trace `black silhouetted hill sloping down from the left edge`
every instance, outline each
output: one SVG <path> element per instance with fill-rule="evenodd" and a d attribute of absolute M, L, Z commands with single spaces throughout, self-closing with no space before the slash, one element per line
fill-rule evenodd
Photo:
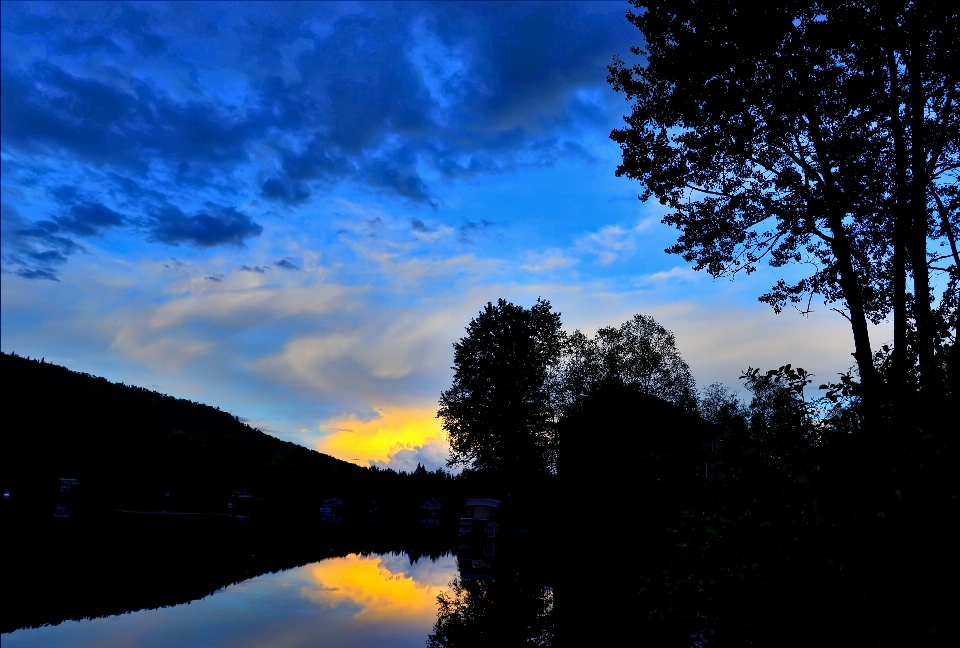
<path fill-rule="evenodd" d="M 0 368 L 0 487 L 12 513 L 52 514 L 62 477 L 79 481 L 73 504 L 91 513 L 226 512 L 236 489 L 266 507 L 312 509 L 372 477 L 208 405 L 16 355 L 0 354 Z"/>

